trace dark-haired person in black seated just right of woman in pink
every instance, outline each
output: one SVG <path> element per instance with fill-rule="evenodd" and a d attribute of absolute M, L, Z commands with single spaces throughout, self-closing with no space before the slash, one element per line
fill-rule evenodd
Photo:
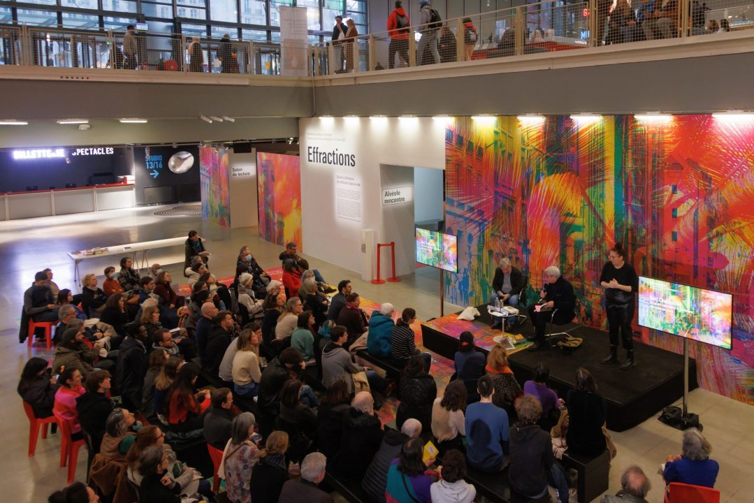
<path fill-rule="evenodd" d="M 76 398 L 76 413 L 81 429 L 89 434 L 94 448 L 93 454 L 100 452 L 100 444 L 105 436 L 107 418 L 112 413 L 112 402 L 107 394 L 112 387 L 107 370 L 94 370 L 86 380 L 86 393 Z"/>

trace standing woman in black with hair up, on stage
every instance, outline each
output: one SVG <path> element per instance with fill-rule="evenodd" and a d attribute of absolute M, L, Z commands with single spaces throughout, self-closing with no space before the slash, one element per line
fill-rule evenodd
<path fill-rule="evenodd" d="M 626 262 L 623 245 L 616 243 L 608 253 L 610 262 L 602 268 L 599 284 L 605 289 L 605 309 L 608 314 L 610 329 L 610 354 L 602 363 L 618 362 L 618 330 L 621 331 L 623 348 L 626 350 L 626 362 L 621 369 L 636 366 L 633 354 L 633 337 L 631 320 L 633 319 L 634 293 L 639 290 L 639 277 L 633 267 Z"/>

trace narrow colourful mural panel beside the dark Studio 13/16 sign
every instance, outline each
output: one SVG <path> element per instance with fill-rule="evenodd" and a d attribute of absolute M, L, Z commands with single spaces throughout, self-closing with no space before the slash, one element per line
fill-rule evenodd
<path fill-rule="evenodd" d="M 201 147 L 201 218 L 214 220 L 223 227 L 231 226 L 231 197 L 228 188 L 228 149 Z"/>

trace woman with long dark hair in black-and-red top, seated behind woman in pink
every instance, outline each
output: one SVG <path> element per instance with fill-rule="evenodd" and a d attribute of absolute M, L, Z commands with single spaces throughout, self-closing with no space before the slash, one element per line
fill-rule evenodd
<path fill-rule="evenodd" d="M 186 432 L 204 428 L 204 410 L 210 403 L 210 390 L 194 392 L 199 371 L 193 363 L 186 363 L 167 391 L 167 422 L 170 431 Z"/>

